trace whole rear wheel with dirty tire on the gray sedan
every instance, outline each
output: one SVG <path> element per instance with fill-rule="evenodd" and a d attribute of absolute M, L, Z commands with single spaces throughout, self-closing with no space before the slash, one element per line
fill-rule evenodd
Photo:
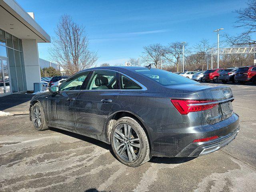
<path fill-rule="evenodd" d="M 116 158 L 130 167 L 138 167 L 151 158 L 146 132 L 133 118 L 122 117 L 116 121 L 110 135 Z"/>

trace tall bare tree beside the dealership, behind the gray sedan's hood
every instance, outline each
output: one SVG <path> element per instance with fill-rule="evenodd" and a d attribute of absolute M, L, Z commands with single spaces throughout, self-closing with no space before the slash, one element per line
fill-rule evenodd
<path fill-rule="evenodd" d="M 89 50 L 89 41 L 85 28 L 76 24 L 69 15 L 60 17 L 49 49 L 50 59 L 72 75 L 90 68 L 98 59 L 96 52 Z"/>

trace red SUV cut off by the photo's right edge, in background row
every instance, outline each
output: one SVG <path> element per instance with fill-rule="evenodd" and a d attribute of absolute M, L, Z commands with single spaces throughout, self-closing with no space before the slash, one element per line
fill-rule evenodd
<path fill-rule="evenodd" d="M 253 82 L 256 84 L 256 65 L 239 67 L 236 71 L 235 80 L 240 83 Z"/>

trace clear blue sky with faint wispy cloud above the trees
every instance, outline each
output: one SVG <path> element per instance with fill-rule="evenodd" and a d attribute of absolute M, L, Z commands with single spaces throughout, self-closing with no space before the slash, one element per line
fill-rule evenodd
<path fill-rule="evenodd" d="M 100 56 L 97 64 L 124 64 L 138 58 L 143 46 L 152 43 L 186 41 L 190 46 L 203 38 L 217 40 L 217 28 L 229 34 L 236 9 L 246 7 L 243 0 L 17 0 L 51 36 L 62 14 L 86 27 L 90 50 Z M 39 56 L 48 59 L 50 43 L 39 43 Z"/>

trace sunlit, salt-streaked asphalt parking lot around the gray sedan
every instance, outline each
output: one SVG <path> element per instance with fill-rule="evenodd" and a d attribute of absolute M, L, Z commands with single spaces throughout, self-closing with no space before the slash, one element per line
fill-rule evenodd
<path fill-rule="evenodd" d="M 0 191 L 255 192 L 256 86 L 228 85 L 240 116 L 232 143 L 198 158 L 154 157 L 138 168 L 118 162 L 98 140 L 38 132 L 26 114 L 0 117 Z"/>

